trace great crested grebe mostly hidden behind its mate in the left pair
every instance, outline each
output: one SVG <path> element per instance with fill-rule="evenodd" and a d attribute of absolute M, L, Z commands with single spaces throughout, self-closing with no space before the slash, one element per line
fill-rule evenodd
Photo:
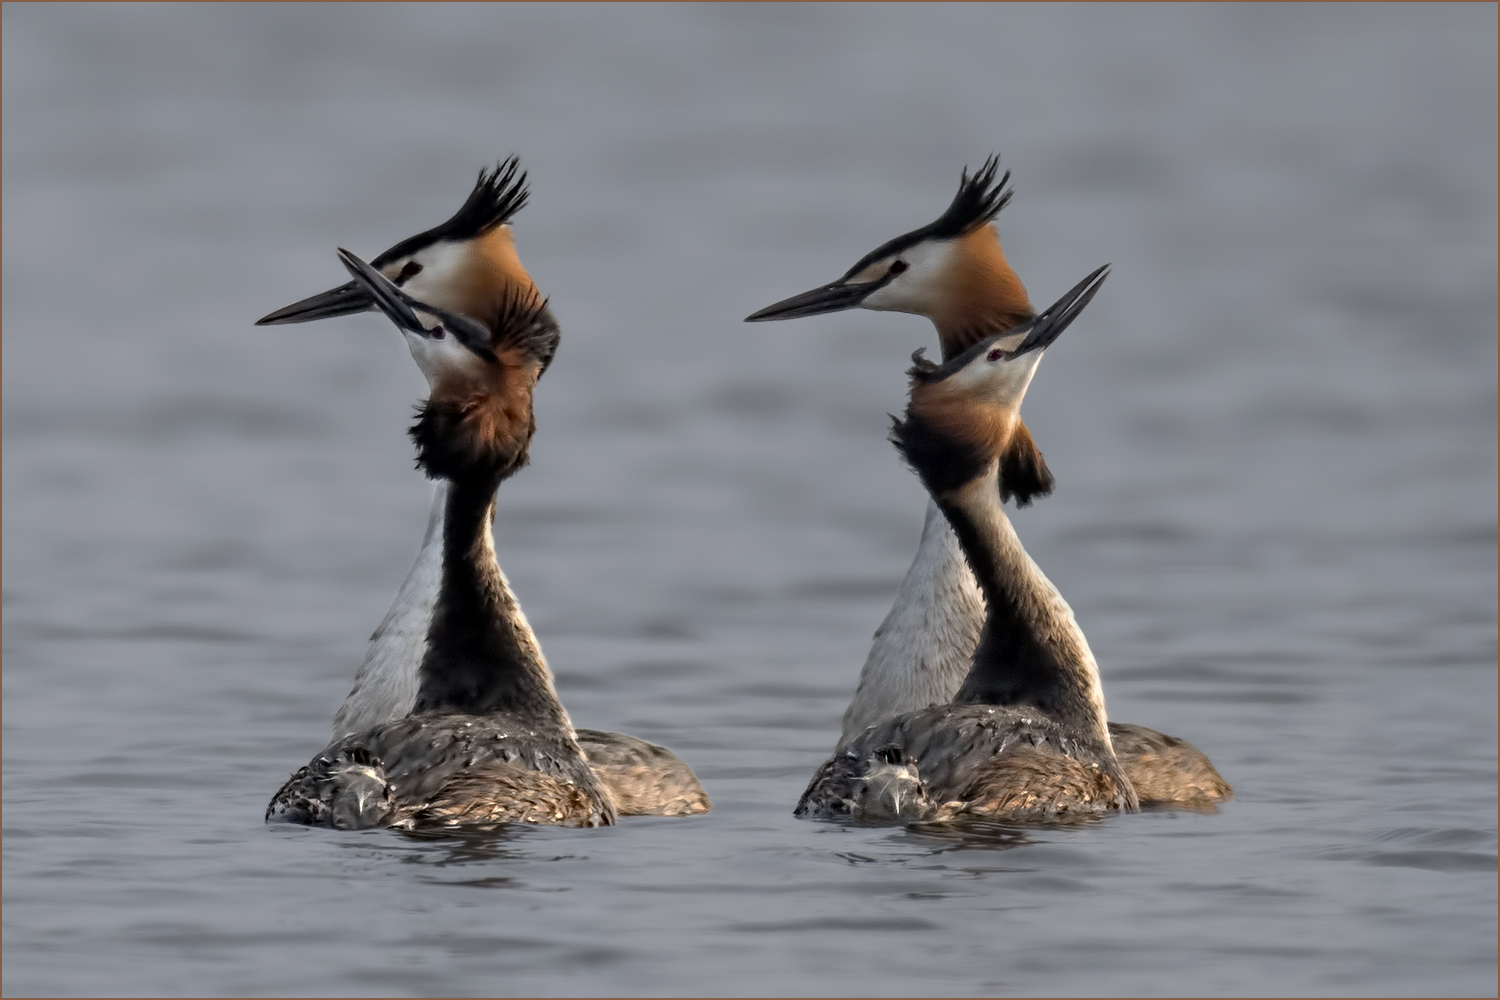
<path fill-rule="evenodd" d="M 494 171 L 480 171 L 474 190 L 452 219 L 402 240 L 370 265 L 412 301 L 435 310 L 492 318 L 516 301 L 544 310 L 542 294 L 516 253 L 508 225 L 526 199 L 526 174 L 519 169 L 519 160 L 510 157 Z M 376 301 L 366 283 L 351 280 L 278 309 L 256 325 L 306 322 L 370 309 L 376 309 Z M 412 358 L 422 367 L 428 342 L 420 334 L 405 333 Z M 542 358 L 543 372 L 549 361 L 550 355 Z M 404 718 L 417 703 L 418 669 L 428 651 L 441 579 L 447 490 L 446 480 L 435 481 L 422 550 L 370 636 L 350 694 L 333 717 L 336 739 Z M 531 627 L 513 598 L 512 607 L 514 628 L 530 636 Z M 670 750 L 624 733 L 594 729 L 576 733 L 621 816 L 692 816 L 710 810 L 702 784 Z"/>

